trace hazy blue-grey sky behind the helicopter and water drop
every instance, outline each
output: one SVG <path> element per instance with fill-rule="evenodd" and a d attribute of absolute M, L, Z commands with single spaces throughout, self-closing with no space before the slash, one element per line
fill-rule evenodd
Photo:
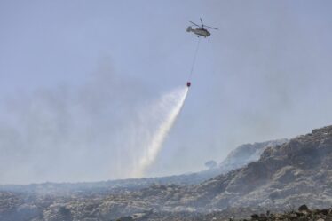
<path fill-rule="evenodd" d="M 331 124 L 331 1 L 0 1 L 0 184 L 127 178 L 150 108 L 193 85 L 146 176 Z M 148 122 L 148 123 L 146 123 Z"/>

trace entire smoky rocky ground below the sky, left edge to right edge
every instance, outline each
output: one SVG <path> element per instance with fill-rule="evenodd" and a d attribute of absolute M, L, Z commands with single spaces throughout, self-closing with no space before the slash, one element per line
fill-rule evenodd
<path fill-rule="evenodd" d="M 241 165 L 241 168 L 199 183 L 155 182 L 152 185 L 138 179 L 138 185 L 133 185 L 135 182 L 131 180 L 123 187 L 119 183 L 99 183 L 95 187 L 80 184 L 76 188 L 66 184 L 60 187 L 46 184 L 47 188 L 43 185 L 1 186 L 0 220 L 330 218 L 330 209 L 324 208 L 332 205 L 332 126 L 312 130 L 309 134 L 274 146 L 256 148 L 247 145 L 241 148 L 220 164 L 228 170 L 227 165 L 240 162 L 236 165 Z M 241 160 L 241 153 L 249 154 Z M 255 154 L 260 154 L 260 157 L 252 162 Z M 240 160 L 233 161 L 235 156 Z M 220 172 L 222 169 L 217 170 Z M 184 180 L 190 177 L 177 178 Z M 302 204 L 307 204 L 312 210 L 289 210 Z M 266 210 L 270 211 L 269 214 L 259 212 Z M 288 212 L 281 214 L 284 210 Z M 323 217 L 321 212 L 327 215 L 323 214 Z M 250 217 L 253 213 L 257 216 Z"/>

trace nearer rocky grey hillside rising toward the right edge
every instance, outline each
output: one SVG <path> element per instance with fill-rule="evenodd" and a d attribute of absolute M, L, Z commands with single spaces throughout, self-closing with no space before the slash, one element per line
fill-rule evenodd
<path fill-rule="evenodd" d="M 212 212 L 227 208 L 285 209 L 332 204 L 332 126 L 265 149 L 257 162 L 200 185 L 154 185 L 112 201 L 144 201 L 144 209 Z M 162 206 L 161 206 L 162 205 Z"/>

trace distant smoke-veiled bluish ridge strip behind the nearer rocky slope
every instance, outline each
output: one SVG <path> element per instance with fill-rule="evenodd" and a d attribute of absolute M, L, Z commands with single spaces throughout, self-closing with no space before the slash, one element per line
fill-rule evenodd
<path fill-rule="evenodd" d="M 277 139 L 241 145 L 228 154 L 225 160 L 219 163 L 217 168 L 187 174 L 159 178 L 127 178 L 100 182 L 0 185 L 0 191 L 11 191 L 15 193 L 54 193 L 63 195 L 76 192 L 114 193 L 119 190 L 134 191 L 146 188 L 150 185 L 195 185 L 209 178 L 214 178 L 217 175 L 225 174 L 230 170 L 241 168 L 249 162 L 257 161 L 265 148 L 274 147 L 286 141 L 287 139 Z"/>

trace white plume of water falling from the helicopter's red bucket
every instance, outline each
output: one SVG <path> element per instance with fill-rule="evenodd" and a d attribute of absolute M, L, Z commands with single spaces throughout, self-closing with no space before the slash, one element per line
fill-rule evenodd
<path fill-rule="evenodd" d="M 157 154 L 162 148 L 163 141 L 181 112 L 187 92 L 187 87 L 170 91 L 154 105 L 153 111 L 157 114 L 157 118 L 160 119 L 160 125 L 155 130 L 150 143 L 144 149 L 144 154 L 138 162 L 138 168 L 134 172 L 135 177 L 142 177 L 146 169 L 154 163 Z"/>

